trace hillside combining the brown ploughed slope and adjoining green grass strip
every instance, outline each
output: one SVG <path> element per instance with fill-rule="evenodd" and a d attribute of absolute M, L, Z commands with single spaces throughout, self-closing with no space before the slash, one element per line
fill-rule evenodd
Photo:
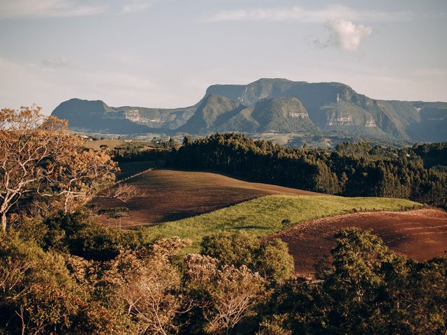
<path fill-rule="evenodd" d="M 129 215 L 122 218 L 123 228 L 148 225 L 145 234 L 154 237 L 192 239 L 191 251 L 197 251 L 203 236 L 219 230 L 245 230 L 264 237 L 291 225 L 353 209 L 396 211 L 420 206 L 402 199 L 321 195 L 211 172 L 152 170 L 126 183 L 137 186 L 145 195 L 125 204 L 104 199 L 97 199 L 96 204 L 103 208 L 128 207 Z M 98 216 L 96 221 L 116 224 L 105 216 Z"/>

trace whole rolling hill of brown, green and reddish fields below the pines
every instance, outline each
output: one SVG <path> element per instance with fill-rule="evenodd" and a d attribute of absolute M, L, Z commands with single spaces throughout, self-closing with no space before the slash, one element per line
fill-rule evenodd
<path fill-rule="evenodd" d="M 328 253 L 335 244 L 333 234 L 347 226 L 372 228 L 391 248 L 416 259 L 441 255 L 447 243 L 446 214 L 418 209 L 422 205 L 409 200 L 344 198 L 178 170 L 151 170 L 126 183 L 145 195 L 126 204 L 95 200 L 102 208 L 128 207 L 123 228 L 143 227 L 149 237 L 191 239 L 187 252 L 197 252 L 201 239 L 213 232 L 277 236 L 289 244 L 302 274 L 312 271 L 314 257 Z M 96 221 L 116 225 L 105 216 Z"/>

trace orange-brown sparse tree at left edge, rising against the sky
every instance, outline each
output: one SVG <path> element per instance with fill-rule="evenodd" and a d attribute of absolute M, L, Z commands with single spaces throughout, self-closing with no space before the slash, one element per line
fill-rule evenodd
<path fill-rule="evenodd" d="M 45 162 L 64 147 L 66 122 L 43 117 L 41 108 L 0 111 L 0 216 L 6 231 L 8 211 L 47 174 Z M 57 163 L 57 162 L 54 162 Z"/>

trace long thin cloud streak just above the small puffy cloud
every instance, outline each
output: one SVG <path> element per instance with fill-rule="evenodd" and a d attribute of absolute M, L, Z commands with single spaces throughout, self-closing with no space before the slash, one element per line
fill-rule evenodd
<path fill-rule="evenodd" d="M 225 21 L 268 21 L 323 23 L 344 18 L 362 22 L 408 21 L 413 18 L 409 11 L 384 12 L 380 10 L 354 10 L 346 6 L 331 5 L 320 10 L 309 10 L 300 6 L 291 8 L 258 8 L 220 12 L 205 19 L 209 22 Z"/>

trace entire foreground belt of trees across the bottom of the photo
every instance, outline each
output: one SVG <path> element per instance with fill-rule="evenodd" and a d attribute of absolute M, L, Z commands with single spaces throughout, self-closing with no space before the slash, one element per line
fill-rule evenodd
<path fill-rule="evenodd" d="M 445 334 L 447 260 L 414 262 L 370 232 L 337 234 L 317 278 L 279 239 L 148 239 L 87 212 L 0 233 L 1 334 Z"/>

